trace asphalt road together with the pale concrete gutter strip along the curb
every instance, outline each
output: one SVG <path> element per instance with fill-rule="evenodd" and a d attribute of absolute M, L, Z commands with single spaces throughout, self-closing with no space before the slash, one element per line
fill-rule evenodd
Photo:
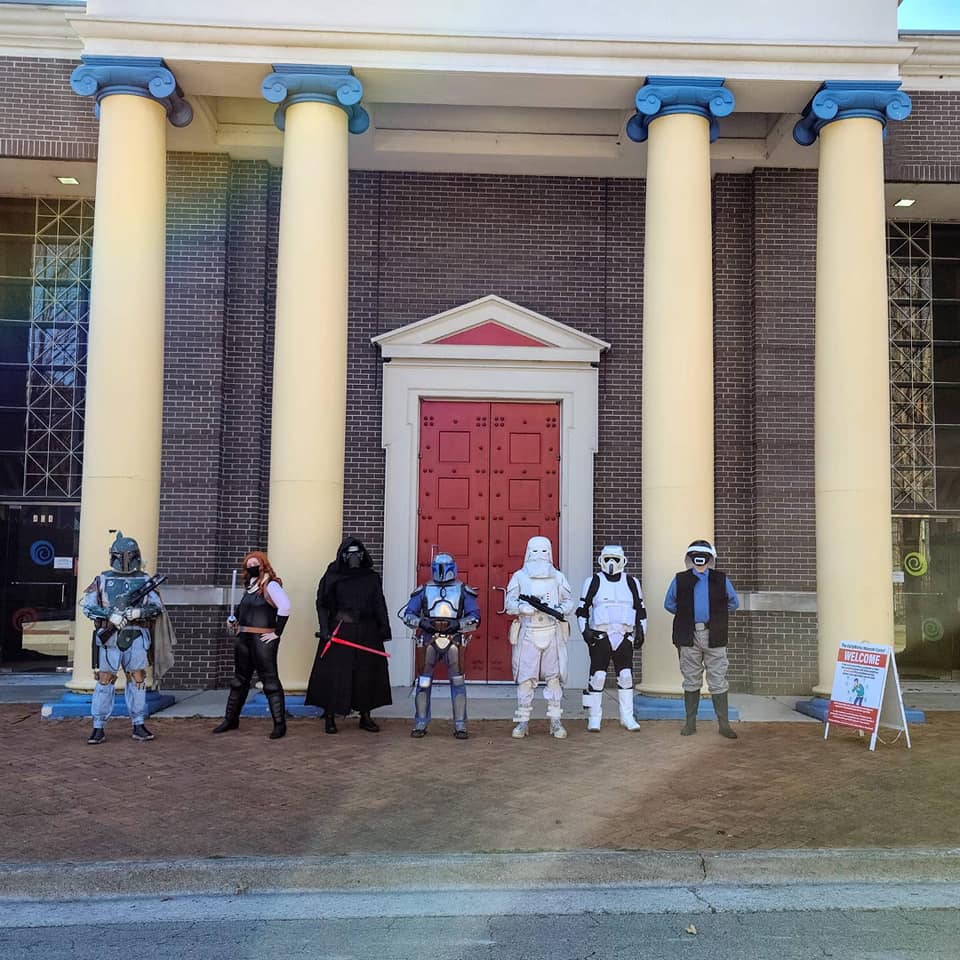
<path fill-rule="evenodd" d="M 406 887 L 0 900 L 2 960 L 956 960 L 960 884 Z"/>

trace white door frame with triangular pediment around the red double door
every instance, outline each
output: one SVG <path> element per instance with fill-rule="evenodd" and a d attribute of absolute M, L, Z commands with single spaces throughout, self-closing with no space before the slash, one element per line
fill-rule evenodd
<path fill-rule="evenodd" d="M 539 345 L 437 342 L 490 322 Z M 374 337 L 373 342 L 389 361 L 383 369 L 383 584 L 394 636 L 390 679 L 402 685 L 412 683 L 415 668 L 413 635 L 395 613 L 416 586 L 420 401 L 559 402 L 560 566 L 577 591 L 594 565 L 597 365 L 609 344 L 494 296 Z M 572 643 L 571 676 L 586 677 L 587 666 L 586 647 Z"/>

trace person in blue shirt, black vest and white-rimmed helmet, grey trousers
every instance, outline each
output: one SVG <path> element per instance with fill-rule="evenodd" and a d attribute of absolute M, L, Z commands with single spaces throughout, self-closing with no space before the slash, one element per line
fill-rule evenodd
<path fill-rule="evenodd" d="M 720 735 L 736 740 L 730 726 L 727 691 L 727 628 L 740 598 L 725 573 L 716 570 L 717 551 L 709 540 L 694 540 L 684 556 L 686 570 L 670 583 L 664 607 L 673 616 L 673 643 L 680 655 L 686 723 L 681 736 L 697 732 L 703 671 L 713 699 Z"/>

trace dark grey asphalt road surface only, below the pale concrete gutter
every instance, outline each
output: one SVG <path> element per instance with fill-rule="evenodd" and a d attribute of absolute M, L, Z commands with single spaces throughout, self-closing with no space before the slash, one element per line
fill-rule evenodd
<path fill-rule="evenodd" d="M 693 924 L 696 933 L 688 932 Z M 7 929 L 4 960 L 955 960 L 950 910 L 394 917 Z"/>

